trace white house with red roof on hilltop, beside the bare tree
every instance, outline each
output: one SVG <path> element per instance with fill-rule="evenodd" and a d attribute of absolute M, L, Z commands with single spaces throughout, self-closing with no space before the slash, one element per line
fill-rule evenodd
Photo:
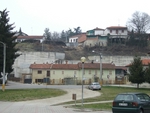
<path fill-rule="evenodd" d="M 111 43 L 125 43 L 128 38 L 127 27 L 110 26 L 105 29 L 105 34 L 109 36 Z"/>

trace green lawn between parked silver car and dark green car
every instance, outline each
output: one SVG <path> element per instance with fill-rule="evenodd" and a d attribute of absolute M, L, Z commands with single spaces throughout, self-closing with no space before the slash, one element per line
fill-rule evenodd
<path fill-rule="evenodd" d="M 94 93 L 95 91 L 93 91 Z M 115 86 L 103 86 L 102 90 L 99 91 L 101 93 L 101 96 L 94 97 L 94 98 L 87 98 L 84 99 L 84 103 L 87 102 L 97 102 L 97 101 L 107 101 L 107 100 L 113 100 L 117 94 L 119 93 L 125 93 L 125 92 L 143 92 L 150 95 L 150 89 L 149 88 L 127 88 L 127 87 L 115 87 Z M 81 103 L 81 100 L 77 100 L 76 103 Z M 74 104 L 74 101 L 67 102 L 65 104 Z M 82 108 L 81 105 L 73 106 L 76 108 Z M 84 104 L 84 108 L 89 109 L 98 109 L 98 110 L 111 110 L 112 103 L 96 103 L 96 104 Z"/>

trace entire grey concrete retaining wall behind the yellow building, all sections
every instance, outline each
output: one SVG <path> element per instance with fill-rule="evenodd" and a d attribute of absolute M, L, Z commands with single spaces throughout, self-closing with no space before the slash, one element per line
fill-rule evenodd
<path fill-rule="evenodd" d="M 52 63 L 58 59 L 64 60 L 64 53 L 56 53 L 56 52 L 20 52 L 20 56 L 15 60 L 13 68 L 15 77 L 22 77 L 22 73 L 31 73 L 29 69 L 30 64 L 36 62 L 39 63 Z M 134 56 L 102 56 L 102 63 L 114 63 L 116 66 L 126 66 L 133 61 Z M 150 59 L 149 56 L 141 56 L 142 59 Z M 99 63 L 99 56 L 87 56 L 86 62 L 94 62 Z M 68 64 L 77 64 L 81 62 L 79 60 L 69 60 Z M 66 61 L 64 60 L 65 64 Z"/>

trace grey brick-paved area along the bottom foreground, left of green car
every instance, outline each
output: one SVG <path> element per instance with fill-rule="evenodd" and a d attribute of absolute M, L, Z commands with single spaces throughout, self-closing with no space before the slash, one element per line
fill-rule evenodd
<path fill-rule="evenodd" d="M 90 111 L 67 108 L 63 106 L 50 106 L 45 104 L 26 102 L 0 102 L 0 113 L 111 113 L 107 111 Z"/>

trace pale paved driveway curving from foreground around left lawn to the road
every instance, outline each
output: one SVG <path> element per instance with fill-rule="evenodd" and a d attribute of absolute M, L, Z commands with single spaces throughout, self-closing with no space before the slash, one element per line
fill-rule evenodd
<path fill-rule="evenodd" d="M 9 85 L 11 84 L 11 86 Z M 44 85 L 31 85 L 31 84 L 21 84 L 21 83 L 13 83 L 9 82 L 7 89 L 12 89 L 20 85 L 20 87 L 24 88 L 45 88 Z M 14 84 L 14 85 L 13 85 Z M 46 86 L 46 88 L 50 88 L 54 86 Z M 56 87 L 56 86 L 55 86 Z M 0 113 L 111 113 L 110 111 L 90 111 L 87 109 L 79 110 L 75 108 L 69 108 L 63 105 L 55 106 L 55 104 L 67 102 L 72 100 L 72 94 L 77 95 L 77 99 L 81 99 L 82 91 L 81 86 L 77 86 L 74 88 L 70 88 L 68 86 L 57 86 L 63 87 L 63 90 L 67 91 L 68 93 L 59 97 L 54 98 L 47 98 L 47 99 L 39 99 L 39 100 L 32 100 L 32 101 L 22 101 L 22 102 L 2 102 L 0 101 Z M 66 87 L 66 88 L 65 88 Z M 83 97 L 95 97 L 99 96 L 100 93 L 97 91 L 91 91 L 84 88 Z"/>

